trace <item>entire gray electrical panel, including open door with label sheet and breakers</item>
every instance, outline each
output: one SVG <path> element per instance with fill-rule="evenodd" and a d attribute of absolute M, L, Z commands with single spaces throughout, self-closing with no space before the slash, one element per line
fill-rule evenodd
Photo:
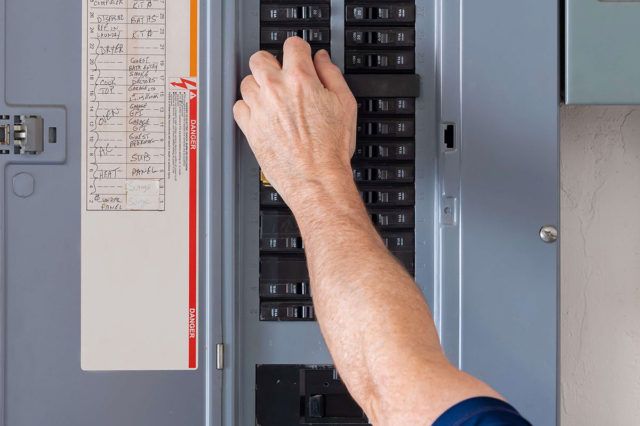
<path fill-rule="evenodd" d="M 291 36 L 345 73 L 353 179 L 448 358 L 555 424 L 557 2 L 0 0 L 0 21 L 5 424 L 368 424 L 232 116 L 249 57 Z"/>

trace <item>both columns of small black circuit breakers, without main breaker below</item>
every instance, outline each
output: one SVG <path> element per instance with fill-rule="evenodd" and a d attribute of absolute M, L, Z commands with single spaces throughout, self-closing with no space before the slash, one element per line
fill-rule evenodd
<path fill-rule="evenodd" d="M 263 0 L 261 49 L 281 57 L 299 36 L 330 50 L 330 1 Z M 345 2 L 344 67 L 358 100 L 353 177 L 389 250 L 414 271 L 415 4 Z M 335 59 L 335 58 L 334 58 Z M 260 180 L 260 320 L 315 319 L 304 242 L 291 211 Z"/>

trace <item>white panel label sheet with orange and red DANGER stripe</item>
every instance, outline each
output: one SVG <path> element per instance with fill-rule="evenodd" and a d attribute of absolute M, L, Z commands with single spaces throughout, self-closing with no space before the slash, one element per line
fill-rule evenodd
<path fill-rule="evenodd" d="M 198 367 L 198 4 L 83 0 L 85 370 Z"/>

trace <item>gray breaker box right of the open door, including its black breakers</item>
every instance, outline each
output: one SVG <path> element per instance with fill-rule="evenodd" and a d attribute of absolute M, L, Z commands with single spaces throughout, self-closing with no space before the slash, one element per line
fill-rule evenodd
<path fill-rule="evenodd" d="M 488 8 L 421 0 L 242 4 L 240 10 L 247 12 L 241 23 L 242 62 L 255 51 L 257 40 L 282 59 L 288 34 L 309 41 L 314 53 L 328 50 L 344 71 L 358 106 L 353 179 L 385 245 L 424 291 L 445 352 L 456 365 L 509 394 L 534 423 L 550 424 L 554 396 L 528 406 L 530 391 L 521 393 L 505 377 L 491 377 L 500 376 L 508 364 L 499 351 L 527 358 L 525 352 L 532 350 L 533 341 L 524 338 L 528 325 L 520 322 L 526 303 L 513 303 L 523 293 L 535 293 L 545 300 L 550 320 L 542 325 L 536 316 L 546 330 L 538 341 L 546 348 L 546 361 L 536 363 L 536 376 L 545 378 L 543 393 L 555 395 L 555 373 L 548 369 L 555 365 L 555 275 L 538 276 L 535 281 L 546 284 L 532 287 L 531 280 L 522 281 L 521 271 L 529 270 L 533 259 L 555 264 L 555 250 L 538 231 L 542 222 L 557 218 L 553 194 L 541 192 L 542 187 L 555 188 L 548 179 L 557 176 L 557 136 L 544 130 L 557 128 L 558 63 L 549 55 L 557 49 L 557 28 L 552 27 L 557 5 L 546 0 L 544 5 L 495 3 Z M 256 8 L 259 37 L 251 28 Z M 243 73 L 248 71 L 243 65 Z M 516 94 L 508 102 L 507 90 Z M 544 109 L 532 108 L 542 104 Z M 307 393 L 305 375 L 314 369 L 330 374 L 333 367 L 315 323 L 304 240 L 250 150 L 242 145 L 239 151 L 241 309 L 236 314 L 242 336 L 238 368 L 245 373 L 237 377 L 246 401 L 240 422 L 366 422 L 357 415 L 309 417 L 322 412 L 323 403 L 327 412 L 332 408 L 322 391 Z M 542 161 L 541 152 L 553 161 Z M 534 157 L 548 165 L 545 178 L 541 168 L 526 166 Z M 538 186 L 541 179 L 546 183 Z M 534 208 L 540 216 L 532 210 L 514 216 L 521 207 L 532 208 L 528 197 L 546 200 Z M 520 249 L 505 251 L 515 243 L 509 237 L 515 229 L 528 236 L 518 240 Z M 496 301 L 505 297 L 509 303 L 498 306 Z M 495 340 L 487 334 L 488 323 L 510 329 L 512 346 L 488 346 Z M 515 335 L 522 341 L 515 343 Z M 494 365 L 496 359 L 503 360 L 501 367 Z M 348 395 L 341 398 L 356 407 L 347 403 Z M 539 410 L 542 405 L 546 408 Z"/>

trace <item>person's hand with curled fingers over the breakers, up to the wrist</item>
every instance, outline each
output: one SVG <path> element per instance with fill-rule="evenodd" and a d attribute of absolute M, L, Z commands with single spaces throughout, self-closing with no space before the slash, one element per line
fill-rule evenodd
<path fill-rule="evenodd" d="M 310 191 L 353 182 L 357 105 L 326 51 L 312 60 L 309 44 L 291 37 L 282 62 L 265 51 L 251 57 L 252 75 L 233 113 L 262 172 L 295 213 Z"/>

